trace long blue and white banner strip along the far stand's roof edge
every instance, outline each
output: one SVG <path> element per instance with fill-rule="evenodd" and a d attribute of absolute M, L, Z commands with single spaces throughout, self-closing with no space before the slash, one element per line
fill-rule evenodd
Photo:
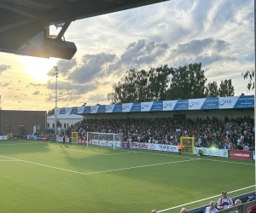
<path fill-rule="evenodd" d="M 55 109 L 56 114 L 90 114 L 112 112 L 162 112 L 185 110 L 213 110 L 231 108 L 253 108 L 254 95 L 229 97 L 207 97 L 174 101 L 148 101 L 88 107 L 64 107 Z"/>

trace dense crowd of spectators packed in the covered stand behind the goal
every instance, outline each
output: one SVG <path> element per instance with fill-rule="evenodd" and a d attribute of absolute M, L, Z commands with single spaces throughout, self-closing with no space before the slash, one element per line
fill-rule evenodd
<path fill-rule="evenodd" d="M 180 136 L 195 138 L 196 147 L 255 149 L 254 120 L 244 118 L 87 118 L 71 126 L 80 137 L 87 132 L 121 133 L 124 141 L 177 145 Z"/>

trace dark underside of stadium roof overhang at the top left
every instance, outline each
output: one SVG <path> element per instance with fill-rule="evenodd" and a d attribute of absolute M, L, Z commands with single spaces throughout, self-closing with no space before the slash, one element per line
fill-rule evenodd
<path fill-rule="evenodd" d="M 113 13 L 167 0 L 3 0 L 0 1 L 0 51 L 71 59 L 76 45 L 61 37 L 73 20 Z M 49 35 L 49 26 L 61 32 Z"/>

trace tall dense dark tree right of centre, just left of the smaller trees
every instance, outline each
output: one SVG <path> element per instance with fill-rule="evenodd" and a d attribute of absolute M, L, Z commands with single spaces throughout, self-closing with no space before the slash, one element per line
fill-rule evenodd
<path fill-rule="evenodd" d="M 170 89 L 166 100 L 193 99 L 206 97 L 205 89 L 207 78 L 201 70 L 201 63 L 179 66 L 172 72 Z"/>

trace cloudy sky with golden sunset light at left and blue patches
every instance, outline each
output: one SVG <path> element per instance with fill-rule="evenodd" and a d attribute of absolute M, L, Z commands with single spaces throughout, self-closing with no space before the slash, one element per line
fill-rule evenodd
<path fill-rule="evenodd" d="M 254 69 L 253 0 L 172 0 L 84 20 L 65 33 L 72 60 L 0 53 L 3 110 L 110 104 L 108 93 L 132 68 L 202 63 L 207 83 L 231 79 L 235 95 L 252 95 L 242 72 Z M 56 34 L 55 26 L 50 33 Z"/>

